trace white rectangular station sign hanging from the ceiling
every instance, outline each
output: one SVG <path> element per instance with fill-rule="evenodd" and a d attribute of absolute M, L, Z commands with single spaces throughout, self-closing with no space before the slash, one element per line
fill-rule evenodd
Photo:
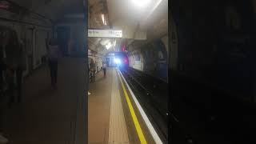
<path fill-rule="evenodd" d="M 122 38 L 122 30 L 88 30 L 90 38 Z"/>

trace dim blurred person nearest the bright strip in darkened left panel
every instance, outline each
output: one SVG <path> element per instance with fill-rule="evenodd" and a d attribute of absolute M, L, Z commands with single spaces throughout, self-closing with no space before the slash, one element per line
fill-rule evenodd
<path fill-rule="evenodd" d="M 56 38 L 51 38 L 50 42 L 46 39 L 46 49 L 48 56 L 48 63 L 50 68 L 50 79 L 52 88 L 57 88 L 58 79 L 58 58 L 61 55 L 61 51 L 58 46 Z"/>

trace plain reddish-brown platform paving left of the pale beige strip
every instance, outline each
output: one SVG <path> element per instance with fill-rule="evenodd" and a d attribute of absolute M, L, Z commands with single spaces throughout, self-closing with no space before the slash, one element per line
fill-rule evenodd
<path fill-rule="evenodd" d="M 108 143 L 110 125 L 110 98 L 113 81 L 112 70 L 106 70 L 106 78 L 102 71 L 96 74 L 95 82 L 89 84 L 88 96 L 88 142 Z"/>

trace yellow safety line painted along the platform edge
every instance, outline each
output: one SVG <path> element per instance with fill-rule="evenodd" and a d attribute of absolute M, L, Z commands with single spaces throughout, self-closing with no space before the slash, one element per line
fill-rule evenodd
<path fill-rule="evenodd" d="M 146 144 L 146 138 L 145 138 L 144 134 L 142 133 L 142 128 L 139 125 L 138 118 L 137 118 L 137 116 L 134 112 L 134 107 L 131 105 L 130 98 L 127 94 L 126 88 L 125 88 L 125 86 L 122 82 L 122 78 L 120 77 L 119 73 L 118 73 L 118 77 L 119 77 L 119 79 L 121 81 L 121 84 L 122 84 L 122 90 L 123 90 L 124 94 L 126 95 L 126 102 L 129 106 L 130 114 L 131 114 L 131 117 L 133 118 L 134 125 L 135 125 L 135 128 L 137 130 L 138 138 L 139 138 L 139 140 L 142 144 Z"/>

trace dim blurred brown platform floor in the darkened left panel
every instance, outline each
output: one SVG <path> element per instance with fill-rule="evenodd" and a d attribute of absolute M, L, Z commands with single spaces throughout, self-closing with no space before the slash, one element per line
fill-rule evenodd
<path fill-rule="evenodd" d="M 84 58 L 62 58 L 58 65 L 57 90 L 50 88 L 48 66 L 42 66 L 26 78 L 22 103 L 14 103 L 4 114 L 4 133 L 10 144 L 84 141 L 85 110 L 80 110 L 78 104 L 85 100 L 85 66 Z"/>

